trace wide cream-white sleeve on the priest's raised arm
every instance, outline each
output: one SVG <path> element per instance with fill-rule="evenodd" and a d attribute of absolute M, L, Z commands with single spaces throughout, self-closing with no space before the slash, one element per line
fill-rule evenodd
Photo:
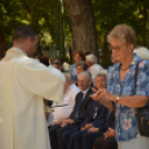
<path fill-rule="evenodd" d="M 14 67 L 23 88 L 37 96 L 60 103 L 63 99 L 64 77 L 53 67 L 46 67 L 38 60 L 28 59 Z"/>

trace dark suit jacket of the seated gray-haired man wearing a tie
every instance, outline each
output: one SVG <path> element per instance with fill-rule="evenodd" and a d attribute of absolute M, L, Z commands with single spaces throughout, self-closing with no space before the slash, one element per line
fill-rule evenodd
<path fill-rule="evenodd" d="M 83 122 L 86 116 L 89 113 L 92 101 L 93 101 L 90 98 L 90 95 L 92 95 L 92 93 L 93 93 L 93 91 L 90 88 L 89 91 L 86 93 L 86 97 L 85 97 L 85 99 L 79 108 L 78 117 L 76 117 L 76 110 L 77 110 L 77 107 L 79 106 L 80 100 L 82 100 L 82 95 L 81 95 L 81 92 L 79 92 L 77 95 L 74 108 L 69 117 L 70 119 L 74 120 L 76 125 Z"/>

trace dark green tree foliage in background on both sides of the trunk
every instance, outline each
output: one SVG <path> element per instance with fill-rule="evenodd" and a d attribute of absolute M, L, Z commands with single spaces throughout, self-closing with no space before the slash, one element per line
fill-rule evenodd
<path fill-rule="evenodd" d="M 111 64 L 106 34 L 118 23 L 130 24 L 136 30 L 138 44 L 149 48 L 149 0 L 92 0 L 92 7 L 103 67 Z M 30 24 L 39 32 L 40 43 L 54 47 L 56 17 L 61 14 L 60 8 L 57 9 L 56 13 L 56 0 L 1 0 L 0 30 L 4 40 L 9 44 L 18 26 Z M 72 39 L 66 7 L 61 17 L 63 21 L 57 21 L 64 24 L 64 44 L 69 46 Z"/>

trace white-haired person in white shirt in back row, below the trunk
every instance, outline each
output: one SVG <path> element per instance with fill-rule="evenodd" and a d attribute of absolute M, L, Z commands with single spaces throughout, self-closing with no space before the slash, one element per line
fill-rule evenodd
<path fill-rule="evenodd" d="M 97 63 L 97 57 L 95 54 L 88 54 L 86 56 L 86 63 L 89 68 L 89 72 L 92 76 L 92 81 L 95 82 L 96 76 L 103 70 L 103 68 Z"/>

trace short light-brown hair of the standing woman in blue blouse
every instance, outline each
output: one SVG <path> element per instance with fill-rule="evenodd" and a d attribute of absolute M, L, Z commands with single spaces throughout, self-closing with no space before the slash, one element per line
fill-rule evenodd
<path fill-rule="evenodd" d="M 127 24 L 116 26 L 107 36 L 109 43 L 111 42 L 111 39 L 122 39 L 126 44 L 133 44 L 133 47 L 137 43 L 135 30 Z"/>

